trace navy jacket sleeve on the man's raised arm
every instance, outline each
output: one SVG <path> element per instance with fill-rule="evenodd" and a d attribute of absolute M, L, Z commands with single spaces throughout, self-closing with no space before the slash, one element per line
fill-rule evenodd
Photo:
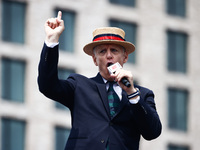
<path fill-rule="evenodd" d="M 46 97 L 71 107 L 75 82 L 58 79 L 58 45 L 49 48 L 44 44 L 38 67 L 38 86 Z"/>

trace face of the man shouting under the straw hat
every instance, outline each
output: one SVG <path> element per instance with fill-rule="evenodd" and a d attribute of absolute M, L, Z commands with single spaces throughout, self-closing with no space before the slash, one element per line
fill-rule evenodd
<path fill-rule="evenodd" d="M 123 66 L 128 60 L 128 54 L 124 48 L 115 44 L 98 45 L 94 48 L 92 56 L 94 64 L 99 67 L 99 72 L 106 80 L 113 80 L 110 77 L 107 67 L 116 62 Z"/>

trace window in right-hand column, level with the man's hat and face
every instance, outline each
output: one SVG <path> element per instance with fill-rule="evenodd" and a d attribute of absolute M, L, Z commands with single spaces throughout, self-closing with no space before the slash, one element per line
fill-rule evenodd
<path fill-rule="evenodd" d="M 187 39 L 185 33 L 167 31 L 168 70 L 186 73 Z"/>

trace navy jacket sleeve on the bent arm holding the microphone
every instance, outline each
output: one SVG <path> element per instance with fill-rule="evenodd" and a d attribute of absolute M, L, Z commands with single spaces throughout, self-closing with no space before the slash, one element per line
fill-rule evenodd
<path fill-rule="evenodd" d="M 132 104 L 134 119 L 143 138 L 152 140 L 161 134 L 162 125 L 156 111 L 154 93 L 145 88 L 140 88 L 140 92 L 139 102 Z"/>

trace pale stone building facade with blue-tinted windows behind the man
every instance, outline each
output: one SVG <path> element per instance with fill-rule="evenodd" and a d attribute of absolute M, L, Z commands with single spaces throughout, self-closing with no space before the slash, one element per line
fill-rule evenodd
<path fill-rule="evenodd" d="M 0 149 L 61 150 L 70 112 L 37 85 L 44 23 L 63 12 L 59 77 L 98 72 L 83 46 L 97 27 L 116 26 L 135 44 L 125 68 L 152 89 L 163 125 L 140 149 L 198 150 L 200 139 L 200 2 L 198 0 L 1 0 Z"/>

